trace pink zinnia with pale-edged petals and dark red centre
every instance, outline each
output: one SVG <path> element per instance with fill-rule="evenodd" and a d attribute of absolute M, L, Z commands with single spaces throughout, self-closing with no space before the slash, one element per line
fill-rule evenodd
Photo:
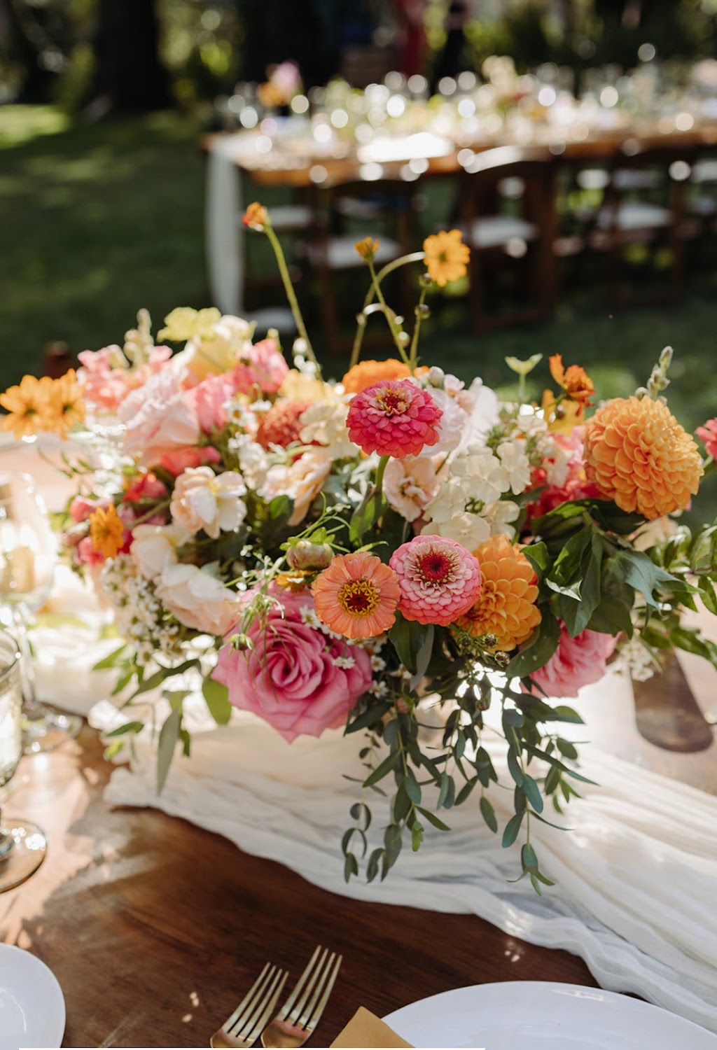
<path fill-rule="evenodd" d="M 417 536 L 394 551 L 388 564 L 399 579 L 399 611 L 419 624 L 447 627 L 481 593 L 478 560 L 442 536 Z"/>

